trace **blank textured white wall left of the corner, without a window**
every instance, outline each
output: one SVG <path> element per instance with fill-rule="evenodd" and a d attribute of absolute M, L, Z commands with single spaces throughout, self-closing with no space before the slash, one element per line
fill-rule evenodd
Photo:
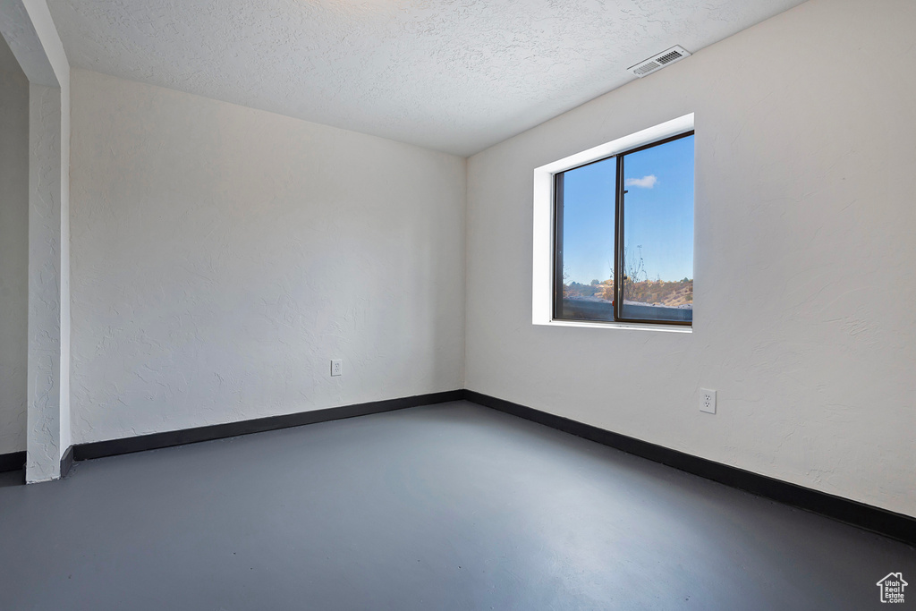
<path fill-rule="evenodd" d="M 71 85 L 73 442 L 463 387 L 463 158 Z"/>

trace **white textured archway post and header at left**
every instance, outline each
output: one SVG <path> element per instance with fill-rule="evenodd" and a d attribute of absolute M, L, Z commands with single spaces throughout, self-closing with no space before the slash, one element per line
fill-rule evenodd
<path fill-rule="evenodd" d="M 45 0 L 0 2 L 28 80 L 26 481 L 60 476 L 70 445 L 70 64 Z"/>

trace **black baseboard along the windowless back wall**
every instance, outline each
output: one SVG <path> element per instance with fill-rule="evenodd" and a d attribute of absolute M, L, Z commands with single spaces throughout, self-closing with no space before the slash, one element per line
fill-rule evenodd
<path fill-rule="evenodd" d="M 295 414 L 257 418 L 255 420 L 213 424 L 211 426 L 197 427 L 195 429 L 157 432 L 151 435 L 125 437 L 123 439 L 113 439 L 106 442 L 79 443 L 72 446 L 72 456 L 74 460 L 85 461 L 93 458 L 102 458 L 104 456 L 114 456 L 116 454 L 128 454 L 143 452 L 144 450 L 168 448 L 173 445 L 184 445 L 185 443 L 209 442 L 214 439 L 237 437 L 238 435 L 247 435 L 253 432 L 275 431 L 277 429 L 287 429 L 289 427 L 313 424 L 315 422 L 341 420 L 344 418 L 353 418 L 354 416 L 366 416 L 368 414 L 377 414 L 383 411 L 392 411 L 394 409 L 414 408 L 420 405 L 457 401 L 463 398 L 463 392 L 463 390 L 447 390 L 445 392 L 435 392 L 429 395 L 390 398 L 382 401 L 345 405 L 339 408 L 315 409 L 312 411 L 301 411 Z"/>

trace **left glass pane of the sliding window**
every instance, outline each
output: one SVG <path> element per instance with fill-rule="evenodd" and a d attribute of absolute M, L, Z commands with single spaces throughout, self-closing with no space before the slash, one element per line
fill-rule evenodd
<path fill-rule="evenodd" d="M 616 158 L 563 172 L 561 184 L 557 265 L 562 265 L 562 297 L 556 298 L 556 315 L 613 321 Z"/>

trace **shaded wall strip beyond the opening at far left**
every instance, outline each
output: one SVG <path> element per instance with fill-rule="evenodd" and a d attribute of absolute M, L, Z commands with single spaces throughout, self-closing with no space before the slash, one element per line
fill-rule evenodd
<path fill-rule="evenodd" d="M 0 454 L 26 450 L 28 81 L 0 37 Z"/>

